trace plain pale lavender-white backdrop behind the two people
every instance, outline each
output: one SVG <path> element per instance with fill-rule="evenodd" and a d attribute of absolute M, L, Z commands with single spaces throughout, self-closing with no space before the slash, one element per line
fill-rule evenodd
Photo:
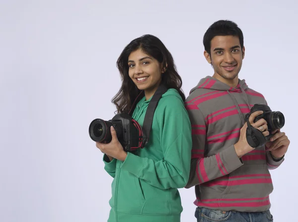
<path fill-rule="evenodd" d="M 172 53 L 183 90 L 213 69 L 203 35 L 231 19 L 244 33 L 239 77 L 286 118 L 286 160 L 271 171 L 275 222 L 297 217 L 296 0 L 0 0 L 0 221 L 104 222 L 112 178 L 88 135 L 110 119 L 116 60 L 143 34 Z M 194 188 L 180 189 L 182 222 L 195 222 Z"/>

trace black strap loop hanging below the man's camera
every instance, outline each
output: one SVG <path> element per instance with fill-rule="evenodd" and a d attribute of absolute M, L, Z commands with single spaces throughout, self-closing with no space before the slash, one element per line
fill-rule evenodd
<path fill-rule="evenodd" d="M 251 126 L 249 122 L 249 116 L 246 116 L 246 123 L 247 123 L 247 129 L 246 129 L 246 140 L 250 147 L 252 148 L 260 148 L 265 145 L 266 137 L 263 135 L 261 131 Z"/>

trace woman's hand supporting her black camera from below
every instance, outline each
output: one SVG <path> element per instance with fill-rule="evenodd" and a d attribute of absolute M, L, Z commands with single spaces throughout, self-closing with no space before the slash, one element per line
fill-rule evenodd
<path fill-rule="evenodd" d="M 110 157 L 113 157 L 124 161 L 127 156 L 127 152 L 124 151 L 122 145 L 118 141 L 114 127 L 111 127 L 111 135 L 112 140 L 109 144 L 96 142 L 96 147 L 99 148 L 103 153 L 105 153 L 110 160 L 112 160 Z"/>

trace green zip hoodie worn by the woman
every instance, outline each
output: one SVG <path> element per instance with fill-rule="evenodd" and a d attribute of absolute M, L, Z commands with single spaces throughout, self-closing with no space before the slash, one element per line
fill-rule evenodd
<path fill-rule="evenodd" d="M 141 126 L 150 99 L 142 98 L 134 110 L 132 117 Z M 105 170 L 114 178 L 108 222 L 180 222 L 177 188 L 187 184 L 191 148 L 184 102 L 176 89 L 168 89 L 156 107 L 147 146 L 129 152 L 125 161 L 103 157 Z"/>

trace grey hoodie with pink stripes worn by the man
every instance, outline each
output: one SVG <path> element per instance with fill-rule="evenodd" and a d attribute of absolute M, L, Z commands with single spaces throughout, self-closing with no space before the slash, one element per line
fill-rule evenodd
<path fill-rule="evenodd" d="M 185 101 L 192 124 L 191 172 L 186 188 L 195 186 L 199 207 L 221 211 L 261 212 L 270 209 L 273 191 L 269 169 L 276 162 L 265 147 L 238 158 L 238 142 L 245 114 L 264 96 L 239 80 L 232 88 L 207 76 Z"/>

